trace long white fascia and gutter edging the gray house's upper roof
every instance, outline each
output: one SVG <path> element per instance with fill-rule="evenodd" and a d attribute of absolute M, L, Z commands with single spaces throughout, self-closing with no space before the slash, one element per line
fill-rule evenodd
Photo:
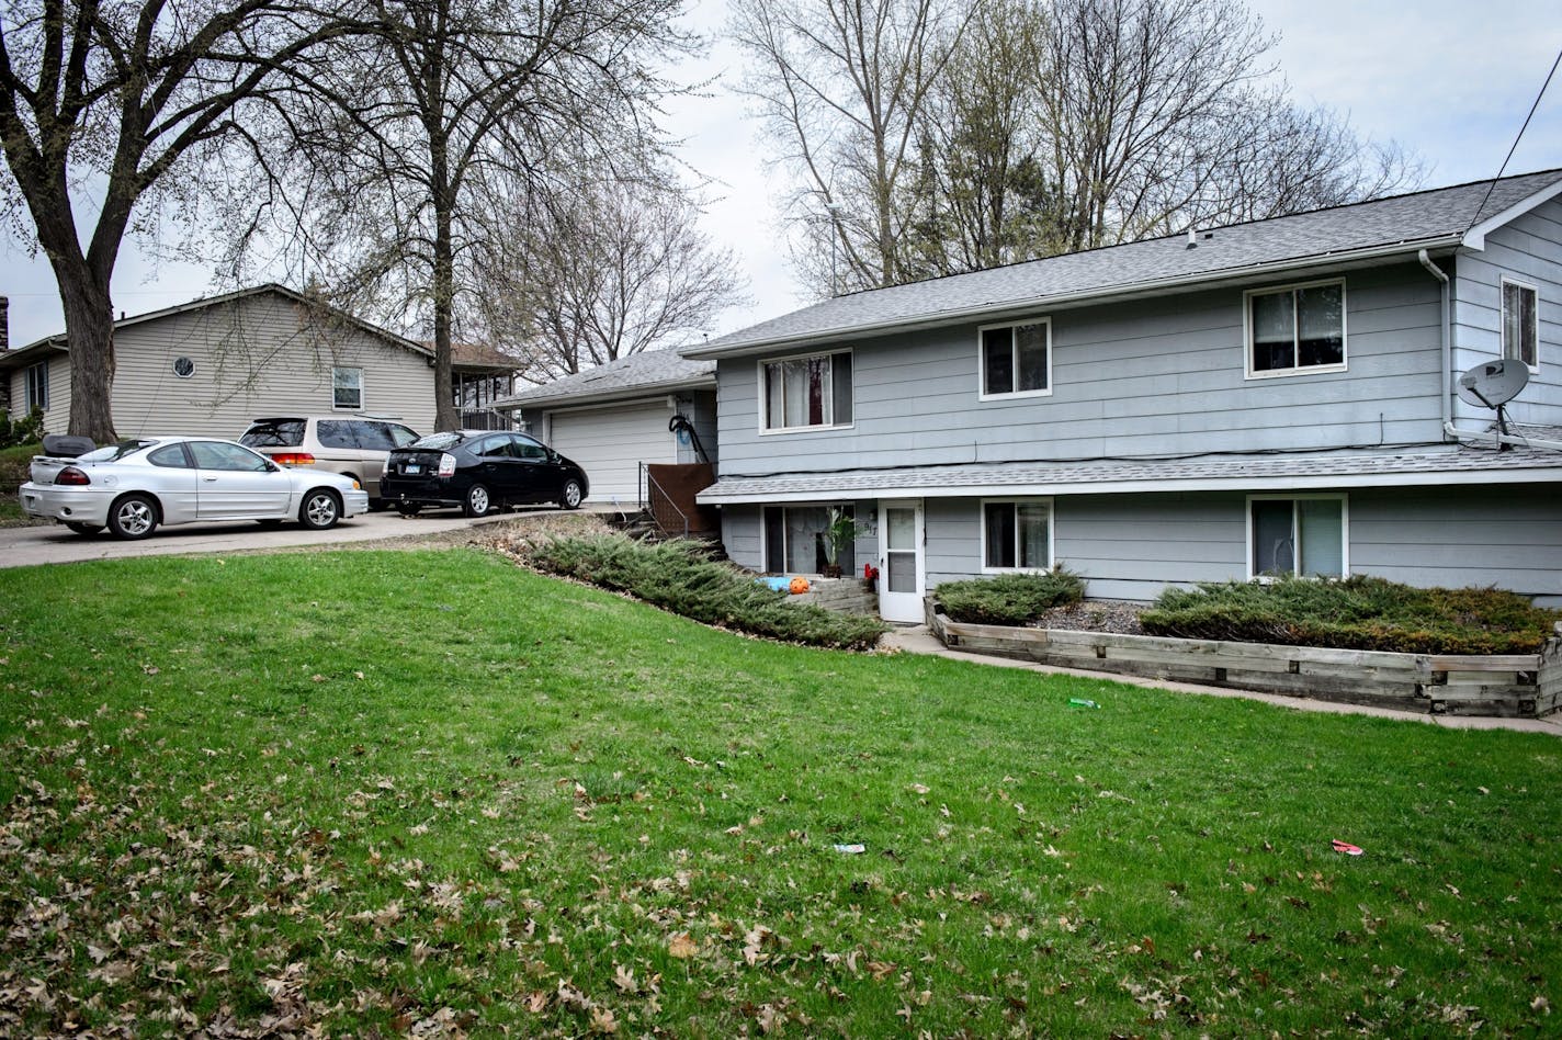
<path fill-rule="evenodd" d="M 1028 297 L 1025 300 L 1015 300 L 1001 305 L 984 303 L 981 306 L 961 308 L 958 311 L 943 311 L 942 314 L 929 314 L 926 317 L 892 319 L 886 322 L 872 322 L 867 325 L 851 325 L 845 328 L 826 328 L 809 333 L 793 333 L 790 336 L 761 339 L 751 344 L 736 344 L 733 347 L 697 347 L 692 350 L 683 350 L 679 353 L 684 358 L 745 358 L 751 354 L 761 354 L 769 350 L 775 350 L 778 347 L 795 347 L 825 339 L 828 340 L 840 340 L 847 337 L 861 339 L 864 336 L 875 336 L 879 333 L 912 333 L 917 329 L 939 328 L 942 325 L 959 325 L 972 320 L 987 320 L 987 319 L 1003 320 L 1004 317 L 1014 317 L 1018 314 L 1032 314 L 1037 311 L 1059 311 L 1064 308 L 1084 306 L 1090 303 L 1104 303 L 1107 300 L 1131 300 L 1134 297 L 1175 292 L 1181 289 L 1189 289 L 1192 286 L 1215 287 L 1232 281 L 1248 281 L 1267 275 L 1289 275 L 1296 272 L 1306 272 L 1309 269 L 1336 269 L 1348 264 L 1362 264 L 1400 255 L 1415 256 L 1420 250 L 1432 251 L 1442 248 L 1453 248 L 1457 247 L 1459 242 L 1460 242 L 1459 234 L 1439 234 L 1431 239 L 1420 239 L 1415 242 L 1395 242 L 1392 245 L 1375 245 L 1371 248 L 1351 250 L 1346 253 L 1323 253 L 1307 258 L 1275 261 L 1268 264 L 1250 264 L 1246 267 L 1234 267 L 1221 272 L 1181 275 L 1178 278 L 1154 278 L 1148 281 L 1129 283 L 1126 286 L 1111 286 L 1104 289 L 1087 289 L 1070 294 Z"/>

